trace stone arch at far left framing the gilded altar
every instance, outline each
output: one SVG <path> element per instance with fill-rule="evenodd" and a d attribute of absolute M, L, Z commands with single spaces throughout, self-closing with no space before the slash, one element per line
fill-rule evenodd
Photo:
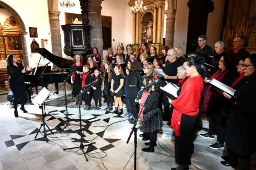
<path fill-rule="evenodd" d="M 23 22 L 23 20 L 21 19 L 20 15 L 8 4 L 0 1 L 0 6 L 2 6 L 3 8 L 5 8 L 7 11 L 9 11 L 12 16 L 15 17 L 15 19 L 20 23 L 20 36 L 21 36 L 21 44 L 22 44 L 22 54 L 23 54 L 23 64 L 24 66 L 28 66 L 29 65 L 29 61 L 28 61 L 28 52 L 27 52 L 27 46 L 26 46 L 26 35 L 28 34 L 26 32 L 26 27 L 25 24 Z"/>

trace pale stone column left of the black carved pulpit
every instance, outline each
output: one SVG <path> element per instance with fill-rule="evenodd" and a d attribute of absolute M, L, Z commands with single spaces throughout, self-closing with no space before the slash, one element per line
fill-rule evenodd
<path fill-rule="evenodd" d="M 58 11 L 58 0 L 48 0 L 48 13 L 52 41 L 52 54 L 62 57 L 61 31 Z"/>

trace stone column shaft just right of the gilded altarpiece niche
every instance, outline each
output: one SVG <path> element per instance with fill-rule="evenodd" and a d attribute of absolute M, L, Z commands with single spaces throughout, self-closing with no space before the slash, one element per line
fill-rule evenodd
<path fill-rule="evenodd" d="M 175 30 L 175 19 L 176 19 L 176 10 L 166 10 L 166 40 L 165 45 L 169 48 L 174 46 L 174 30 Z"/>

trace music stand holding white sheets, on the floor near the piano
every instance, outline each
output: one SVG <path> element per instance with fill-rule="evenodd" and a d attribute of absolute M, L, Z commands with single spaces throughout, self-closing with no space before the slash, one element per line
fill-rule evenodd
<path fill-rule="evenodd" d="M 32 103 L 35 104 L 37 107 L 41 108 L 42 111 L 42 123 L 41 126 L 38 130 L 38 132 L 35 135 L 35 138 L 37 137 L 38 133 L 41 133 L 41 128 L 44 127 L 44 138 L 45 141 L 48 142 L 48 138 L 47 138 L 47 132 L 46 132 L 46 127 L 49 129 L 49 131 L 53 134 L 52 130 L 48 127 L 48 125 L 45 123 L 44 121 L 44 107 L 42 106 L 42 104 L 44 103 L 45 99 L 49 96 L 50 92 L 44 87 L 37 96 L 35 96 L 34 99 L 32 99 Z"/>

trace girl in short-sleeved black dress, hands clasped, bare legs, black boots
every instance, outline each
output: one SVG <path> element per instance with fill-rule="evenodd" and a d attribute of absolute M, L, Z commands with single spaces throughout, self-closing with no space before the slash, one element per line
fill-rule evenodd
<path fill-rule="evenodd" d="M 120 65 L 116 65 L 114 68 L 115 74 L 112 75 L 111 79 L 111 89 L 112 95 L 114 96 L 115 107 L 116 109 L 112 113 L 116 113 L 122 115 L 122 99 L 123 96 L 123 85 L 125 81 L 125 75 L 122 71 L 122 67 Z M 118 112 L 118 106 L 120 108 L 120 112 Z"/>

